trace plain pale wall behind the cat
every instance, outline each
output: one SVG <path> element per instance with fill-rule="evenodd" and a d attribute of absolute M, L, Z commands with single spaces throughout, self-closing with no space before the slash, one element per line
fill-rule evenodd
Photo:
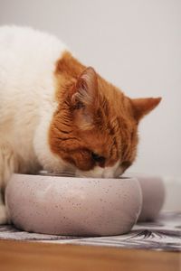
<path fill-rule="evenodd" d="M 180 0 L 0 0 L 0 24 L 55 33 L 130 97 L 162 96 L 131 171 L 181 176 Z"/>

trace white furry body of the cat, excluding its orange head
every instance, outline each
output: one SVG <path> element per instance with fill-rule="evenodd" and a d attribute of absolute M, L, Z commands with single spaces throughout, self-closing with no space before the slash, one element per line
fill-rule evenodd
<path fill-rule="evenodd" d="M 47 135 L 57 106 L 53 71 L 65 50 L 47 33 L 0 27 L 0 186 L 14 171 L 62 170 Z"/>

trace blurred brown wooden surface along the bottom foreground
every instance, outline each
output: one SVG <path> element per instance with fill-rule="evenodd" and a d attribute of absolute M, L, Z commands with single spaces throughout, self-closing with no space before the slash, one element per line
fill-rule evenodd
<path fill-rule="evenodd" d="M 0 240 L 0 270 L 180 271 L 181 253 Z"/>

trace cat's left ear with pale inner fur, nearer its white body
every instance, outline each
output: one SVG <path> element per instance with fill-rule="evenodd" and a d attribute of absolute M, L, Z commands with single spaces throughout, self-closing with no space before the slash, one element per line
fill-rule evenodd
<path fill-rule="evenodd" d="M 98 89 L 98 79 L 95 70 L 91 67 L 83 70 L 77 79 L 71 95 L 71 105 L 75 108 L 93 106 Z"/>

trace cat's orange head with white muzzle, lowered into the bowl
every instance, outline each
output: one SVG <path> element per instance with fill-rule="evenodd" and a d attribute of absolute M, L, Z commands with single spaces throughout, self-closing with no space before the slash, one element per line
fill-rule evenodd
<path fill-rule="evenodd" d="M 119 176 L 136 158 L 140 119 L 161 98 L 131 99 L 92 68 L 77 72 L 76 76 L 72 70 L 62 74 L 59 68 L 59 107 L 50 128 L 51 150 L 77 175 Z"/>

